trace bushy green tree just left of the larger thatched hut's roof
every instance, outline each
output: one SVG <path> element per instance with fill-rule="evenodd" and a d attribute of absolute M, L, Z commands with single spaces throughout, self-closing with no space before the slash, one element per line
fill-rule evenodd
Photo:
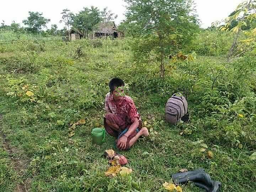
<path fill-rule="evenodd" d="M 92 31 L 94 27 L 101 21 L 100 10 L 97 7 L 84 7 L 73 17 L 73 27 L 82 31 L 84 37 L 88 38 L 88 32 Z"/>

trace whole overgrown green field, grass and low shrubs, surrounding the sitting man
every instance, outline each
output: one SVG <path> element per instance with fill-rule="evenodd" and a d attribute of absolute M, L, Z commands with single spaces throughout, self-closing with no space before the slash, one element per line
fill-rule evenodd
<path fill-rule="evenodd" d="M 0 191 L 165 191 L 162 184 L 172 182 L 172 174 L 198 167 L 222 182 L 223 191 L 256 191 L 250 159 L 256 75 L 247 59 L 167 61 L 160 79 L 157 62 L 133 60 L 129 41 L 24 41 L 0 48 Z M 239 70 L 241 62 L 248 70 Z M 103 127 L 108 82 L 115 76 L 129 85 L 126 94 L 150 130 L 129 151 L 118 151 L 109 135 L 101 146 L 91 143 L 92 128 Z M 164 121 L 165 102 L 183 89 L 190 122 L 171 126 Z M 80 119 L 86 123 L 71 130 Z M 125 155 L 132 174 L 106 177 L 106 149 Z M 202 191 L 193 183 L 182 188 Z"/>

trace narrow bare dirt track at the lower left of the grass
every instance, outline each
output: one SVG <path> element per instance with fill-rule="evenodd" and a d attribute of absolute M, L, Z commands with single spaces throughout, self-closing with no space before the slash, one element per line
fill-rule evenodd
<path fill-rule="evenodd" d="M 11 160 L 12 168 L 17 172 L 18 175 L 23 176 L 26 173 L 27 165 L 29 165 L 29 159 L 24 155 L 24 153 L 9 144 L 6 139 L 6 135 L 2 133 L 1 130 L 1 120 L 2 115 L 0 114 L 0 137 L 3 140 L 3 147 L 5 151 L 9 154 Z M 22 183 L 18 183 L 14 192 L 26 192 L 30 188 L 31 179 L 27 178 Z"/>

